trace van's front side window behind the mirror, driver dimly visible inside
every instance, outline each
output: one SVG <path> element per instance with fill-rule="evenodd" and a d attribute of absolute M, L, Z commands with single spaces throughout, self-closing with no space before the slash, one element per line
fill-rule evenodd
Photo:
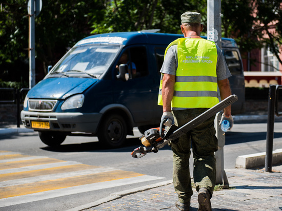
<path fill-rule="evenodd" d="M 148 62 L 146 47 L 133 47 L 129 49 L 130 61 L 136 66 L 136 74 L 132 78 L 139 78 L 148 75 Z"/>

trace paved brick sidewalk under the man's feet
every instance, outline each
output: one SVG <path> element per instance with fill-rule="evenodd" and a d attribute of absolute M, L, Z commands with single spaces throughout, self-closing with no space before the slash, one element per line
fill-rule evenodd
<path fill-rule="evenodd" d="M 264 170 L 236 168 L 225 170 L 229 189 L 213 193 L 212 210 L 282 210 L 282 166 Z M 178 210 L 172 181 L 112 194 L 103 200 L 69 209 L 77 210 Z M 197 210 L 197 193 L 191 198 L 191 211 Z"/>

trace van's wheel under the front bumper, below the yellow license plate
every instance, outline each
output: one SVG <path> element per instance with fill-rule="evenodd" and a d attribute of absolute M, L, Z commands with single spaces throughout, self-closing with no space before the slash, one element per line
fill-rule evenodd
<path fill-rule="evenodd" d="M 60 132 L 38 132 L 39 138 L 48 146 L 59 146 L 66 139 L 66 135 Z"/>

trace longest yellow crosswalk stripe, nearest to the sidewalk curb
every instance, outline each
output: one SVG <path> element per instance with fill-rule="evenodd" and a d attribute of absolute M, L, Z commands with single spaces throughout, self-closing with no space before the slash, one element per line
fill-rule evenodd
<path fill-rule="evenodd" d="M 106 182 L 118 179 L 125 179 L 131 177 L 143 176 L 143 174 L 138 174 L 128 171 L 111 171 L 103 172 L 99 174 L 82 175 L 68 178 L 61 178 L 55 180 L 47 180 L 42 182 L 34 182 L 22 185 L 13 185 L 8 187 L 2 187 L 0 189 L 0 198 L 9 198 L 14 196 L 22 196 L 27 194 L 51 191 L 54 189 L 61 189 L 85 184 L 92 184 L 97 182 Z"/>

